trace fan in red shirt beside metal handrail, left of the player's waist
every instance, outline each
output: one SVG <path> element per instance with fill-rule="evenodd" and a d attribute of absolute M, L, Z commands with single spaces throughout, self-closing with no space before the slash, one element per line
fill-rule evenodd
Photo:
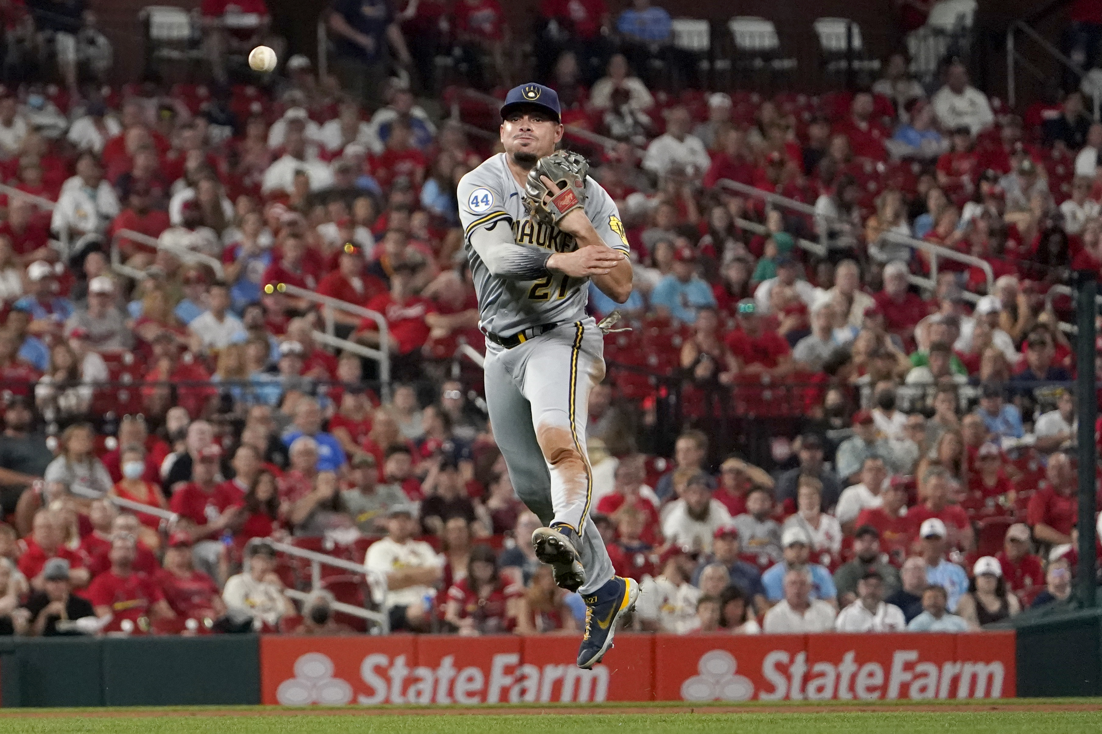
<path fill-rule="evenodd" d="M 436 306 L 431 300 L 413 295 L 412 281 L 418 269 L 419 263 L 395 263 L 393 274 L 390 276 L 390 293 L 380 294 L 367 304 L 369 309 L 382 314 L 387 319 L 391 360 L 397 354 L 398 361 L 398 364 L 391 366 L 396 373 L 418 370 L 421 348 L 429 340 L 430 328 L 425 316 L 436 313 Z M 378 326 L 371 319 L 364 319 L 354 339 L 378 347 Z"/>

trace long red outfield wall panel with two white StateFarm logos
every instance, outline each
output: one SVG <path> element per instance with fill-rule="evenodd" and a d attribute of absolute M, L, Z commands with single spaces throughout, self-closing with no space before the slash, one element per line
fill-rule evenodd
<path fill-rule="evenodd" d="M 267 704 L 1012 698 L 1013 632 L 633 635 L 592 671 L 577 638 L 454 635 L 260 640 Z"/>

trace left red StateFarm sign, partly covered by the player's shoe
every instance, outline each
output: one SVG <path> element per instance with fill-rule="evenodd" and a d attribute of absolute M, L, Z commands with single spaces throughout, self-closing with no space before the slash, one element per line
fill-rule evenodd
<path fill-rule="evenodd" d="M 534 703 L 650 701 L 653 638 L 617 635 L 593 670 L 574 665 L 580 639 L 453 635 L 262 637 L 261 701 Z"/>

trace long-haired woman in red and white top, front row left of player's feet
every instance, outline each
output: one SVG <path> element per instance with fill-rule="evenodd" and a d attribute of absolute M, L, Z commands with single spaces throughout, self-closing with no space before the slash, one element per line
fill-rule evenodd
<path fill-rule="evenodd" d="M 493 548 L 475 546 L 471 549 L 467 577 L 447 590 L 444 621 L 457 627 L 461 635 L 512 632 L 517 625 L 517 600 L 523 593 L 520 584 L 498 574 Z"/>

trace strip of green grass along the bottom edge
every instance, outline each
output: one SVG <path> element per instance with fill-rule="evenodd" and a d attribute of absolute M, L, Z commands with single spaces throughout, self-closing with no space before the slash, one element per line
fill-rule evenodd
<path fill-rule="evenodd" d="M 346 708 L 325 711 L 276 709 L 214 709 L 209 706 L 174 709 L 88 709 L 82 711 L 4 710 L 0 712 L 0 732 L 19 734 L 326 734 L 370 733 L 402 734 L 520 734 L 545 731 L 548 734 L 812 734 L 849 733 L 932 734 L 975 732 L 976 734 L 1059 734 L 1102 732 L 1102 701 L 1084 699 L 1008 700 L 932 703 L 915 710 L 905 703 L 884 703 L 874 710 L 854 710 L 855 704 L 746 704 L 730 712 L 710 711 L 721 706 L 672 708 L 668 704 L 598 704 L 601 713 L 585 713 L 586 706 L 539 706 L 530 713 L 500 713 L 494 708 L 485 713 L 471 709 L 441 709 L 441 713 L 377 713 L 379 710 Z M 615 713 L 616 709 L 623 713 Z M 862 706 L 867 709 L 868 706 Z M 555 709 L 561 709 L 557 712 Z M 647 709 L 655 709 L 647 713 Z M 939 711 L 939 709 L 942 709 Z M 417 709 L 418 712 L 424 711 Z M 609 713 L 612 712 L 612 713 Z M 449 715 L 453 713 L 454 715 Z M 533 715 L 538 714 L 538 715 Z M 539 727 L 537 730 L 537 727 Z"/>

